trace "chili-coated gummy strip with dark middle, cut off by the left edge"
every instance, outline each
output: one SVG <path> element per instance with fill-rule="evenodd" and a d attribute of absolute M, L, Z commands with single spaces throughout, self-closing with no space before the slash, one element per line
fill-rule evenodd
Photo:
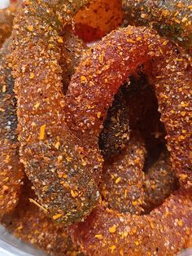
<path fill-rule="evenodd" d="M 10 45 L 11 39 L 0 50 L 0 218 L 14 210 L 24 173 L 19 161 Z"/>

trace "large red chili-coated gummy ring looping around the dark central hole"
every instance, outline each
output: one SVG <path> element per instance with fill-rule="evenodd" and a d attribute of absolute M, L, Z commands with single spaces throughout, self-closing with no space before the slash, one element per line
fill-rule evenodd
<path fill-rule="evenodd" d="M 120 214 L 106 209 L 105 203 L 99 205 L 84 223 L 72 227 L 74 240 L 90 255 L 170 255 L 189 245 L 191 67 L 185 55 L 146 28 L 129 26 L 110 33 L 90 49 L 72 77 L 66 121 L 74 134 L 91 135 L 98 141 L 107 108 L 120 85 L 147 60 L 153 61 L 151 83 L 181 188 L 148 215 Z"/>

